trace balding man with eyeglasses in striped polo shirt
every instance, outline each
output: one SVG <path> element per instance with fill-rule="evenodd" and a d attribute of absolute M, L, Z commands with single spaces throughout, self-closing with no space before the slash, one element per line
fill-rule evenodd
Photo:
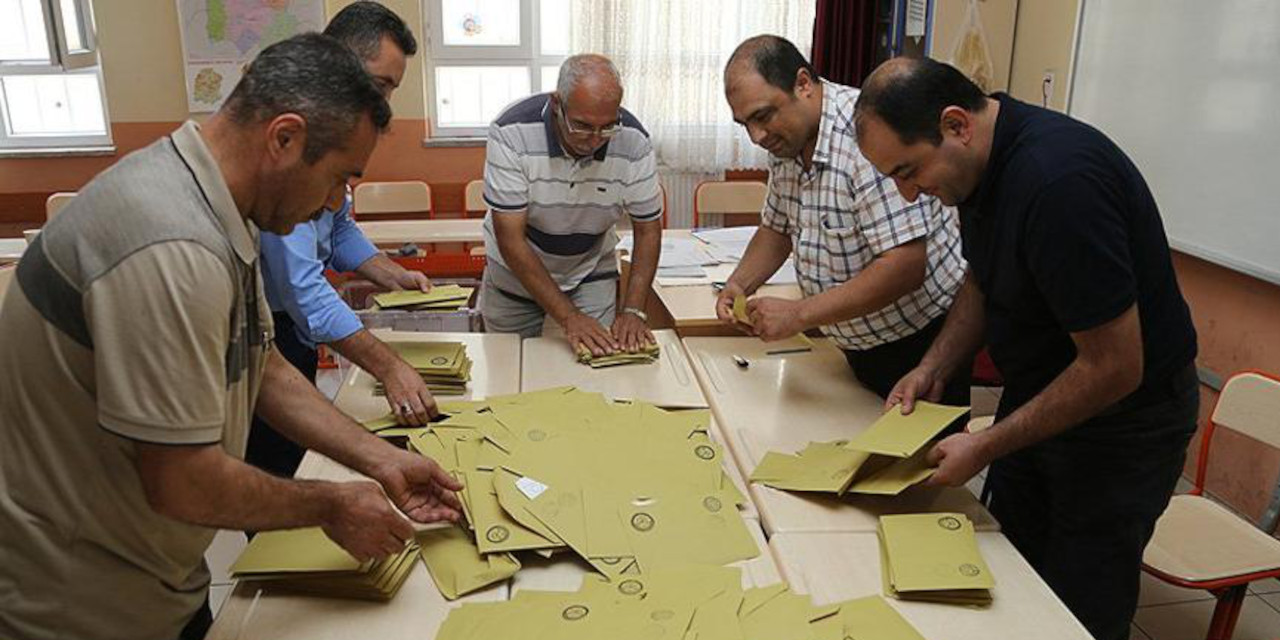
<path fill-rule="evenodd" d="M 480 308 L 490 332 L 539 335 L 550 314 L 575 349 L 596 356 L 653 342 L 643 310 L 662 246 L 662 191 L 649 133 L 621 102 L 613 63 L 575 55 L 554 92 L 508 106 L 489 125 Z M 618 311 L 613 250 L 623 214 L 635 251 Z"/>

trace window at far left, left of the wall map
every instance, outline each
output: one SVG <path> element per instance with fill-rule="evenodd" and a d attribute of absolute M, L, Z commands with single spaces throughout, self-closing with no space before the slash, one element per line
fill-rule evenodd
<path fill-rule="evenodd" d="M 0 0 L 0 148 L 110 145 L 90 0 Z"/>

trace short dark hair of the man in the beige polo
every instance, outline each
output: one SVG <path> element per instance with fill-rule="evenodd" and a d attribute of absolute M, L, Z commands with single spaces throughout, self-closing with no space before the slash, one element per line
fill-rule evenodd
<path fill-rule="evenodd" d="M 239 124 L 288 113 L 301 115 L 307 122 L 302 154 L 307 163 L 340 148 L 364 115 L 379 131 L 392 119 L 390 105 L 360 59 L 320 33 L 293 36 L 264 49 L 223 109 Z"/>

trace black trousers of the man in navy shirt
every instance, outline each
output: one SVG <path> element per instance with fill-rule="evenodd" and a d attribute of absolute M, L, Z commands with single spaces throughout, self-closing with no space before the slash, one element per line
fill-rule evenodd
<path fill-rule="evenodd" d="M 1005 535 L 1098 640 L 1129 637 L 1142 552 L 1178 484 L 1198 410 L 1188 366 L 991 465 L 991 512 Z"/>

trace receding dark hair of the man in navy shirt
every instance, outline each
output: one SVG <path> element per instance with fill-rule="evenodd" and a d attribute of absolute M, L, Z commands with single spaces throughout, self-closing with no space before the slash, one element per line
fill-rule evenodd
<path fill-rule="evenodd" d="M 964 73 L 929 58 L 897 58 L 877 69 L 863 84 L 856 118 L 865 113 L 884 120 L 904 145 L 942 143 L 942 110 L 959 106 L 978 113 L 987 96 Z"/>

